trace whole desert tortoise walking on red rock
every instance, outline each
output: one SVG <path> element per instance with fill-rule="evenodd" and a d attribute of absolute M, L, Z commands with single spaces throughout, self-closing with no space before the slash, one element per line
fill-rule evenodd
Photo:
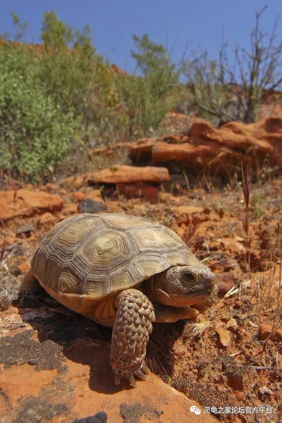
<path fill-rule="evenodd" d="M 115 382 L 125 377 L 134 387 L 134 376 L 150 373 L 144 359 L 152 322 L 195 317 L 189 305 L 209 300 L 215 280 L 173 231 L 120 213 L 58 223 L 34 253 L 26 282 L 34 277 L 71 310 L 113 326 Z"/>

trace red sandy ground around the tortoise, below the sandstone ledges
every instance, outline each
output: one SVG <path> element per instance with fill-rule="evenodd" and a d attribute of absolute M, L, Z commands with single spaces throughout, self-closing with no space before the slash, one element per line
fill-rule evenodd
<path fill-rule="evenodd" d="M 13 183 L 10 181 L 7 188 Z M 282 206 L 282 179 L 251 188 L 250 275 L 245 263 L 241 220 L 245 206 L 240 187 L 211 193 L 193 189 L 175 196 L 159 192 L 156 204 L 138 198 L 102 200 L 100 191 L 86 182 L 79 190 L 55 184 L 44 189 L 51 196 L 49 205 L 43 202 L 47 197 L 42 191 L 36 193 L 42 208 L 32 203 L 35 187 L 28 185 L 30 199 L 24 194 L 29 208 L 23 200 L 15 202 L 14 217 L 2 219 L 1 422 L 72 422 L 98 411 L 105 411 L 109 422 L 196 422 L 198 416 L 189 411 L 193 404 L 201 409 L 203 422 L 216 417 L 232 422 L 278 421 L 282 329 L 265 338 L 271 333 L 277 309 L 276 225 Z M 156 324 L 147 361 L 157 376 L 151 375 L 148 382 L 138 381 L 136 390 L 126 382 L 114 385 L 110 329 L 67 310 L 42 291 L 16 300 L 18 286 L 29 269 L 28 260 L 40 240 L 56 222 L 77 213 L 85 197 L 99 200 L 107 212 L 156 220 L 186 240 L 191 227 L 199 225 L 189 240 L 190 248 L 217 274 L 219 296 L 197 318 L 210 322 L 207 328 L 192 334 L 194 327 L 187 322 Z M 1 212 L 6 212 L 5 207 Z M 240 280 L 240 296 L 235 293 L 225 298 Z M 281 310 L 275 327 L 280 324 Z M 27 355 L 27 350 L 33 354 Z M 212 406 L 218 410 L 265 406 L 272 407 L 272 413 L 204 414 L 204 407 Z"/>

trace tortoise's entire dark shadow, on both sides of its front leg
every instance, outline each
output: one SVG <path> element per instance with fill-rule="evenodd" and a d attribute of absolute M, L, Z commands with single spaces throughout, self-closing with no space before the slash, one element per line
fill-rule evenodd
<path fill-rule="evenodd" d="M 51 340 L 63 347 L 63 356 L 67 360 L 89 366 L 89 388 L 92 391 L 113 394 L 132 389 L 127 381 L 121 381 L 118 386 L 114 383 L 110 364 L 112 328 L 101 326 L 69 310 L 40 286 L 20 300 L 15 300 L 14 305 L 23 321 L 37 332 L 40 343 Z M 147 347 L 147 363 L 151 371 L 160 377 L 174 373 L 172 346 L 183 329 L 182 321 L 154 324 Z M 175 336 L 176 330 L 178 336 Z"/>

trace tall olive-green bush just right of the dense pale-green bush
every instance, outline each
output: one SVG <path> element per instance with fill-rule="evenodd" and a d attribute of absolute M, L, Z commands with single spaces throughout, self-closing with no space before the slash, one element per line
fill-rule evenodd
<path fill-rule="evenodd" d="M 71 108 L 81 121 L 81 136 L 92 145 L 107 141 L 119 127 L 118 97 L 110 66 L 96 54 L 91 30 L 74 31 L 55 12 L 43 19 L 40 80 L 63 112 Z"/>

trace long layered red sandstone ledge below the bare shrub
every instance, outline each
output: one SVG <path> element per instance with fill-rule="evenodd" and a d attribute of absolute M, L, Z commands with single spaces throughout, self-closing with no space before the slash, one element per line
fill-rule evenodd
<path fill-rule="evenodd" d="M 196 121 L 188 136 L 169 135 L 162 140 L 138 140 L 130 148 L 130 156 L 137 163 L 139 160 L 154 164 L 175 161 L 191 168 L 220 168 L 221 164 L 228 165 L 230 158 L 241 158 L 246 151 L 254 151 L 261 160 L 268 154 L 273 164 L 282 165 L 281 137 L 280 118 L 269 118 L 253 124 L 229 122 L 220 129 L 207 121 Z"/>

